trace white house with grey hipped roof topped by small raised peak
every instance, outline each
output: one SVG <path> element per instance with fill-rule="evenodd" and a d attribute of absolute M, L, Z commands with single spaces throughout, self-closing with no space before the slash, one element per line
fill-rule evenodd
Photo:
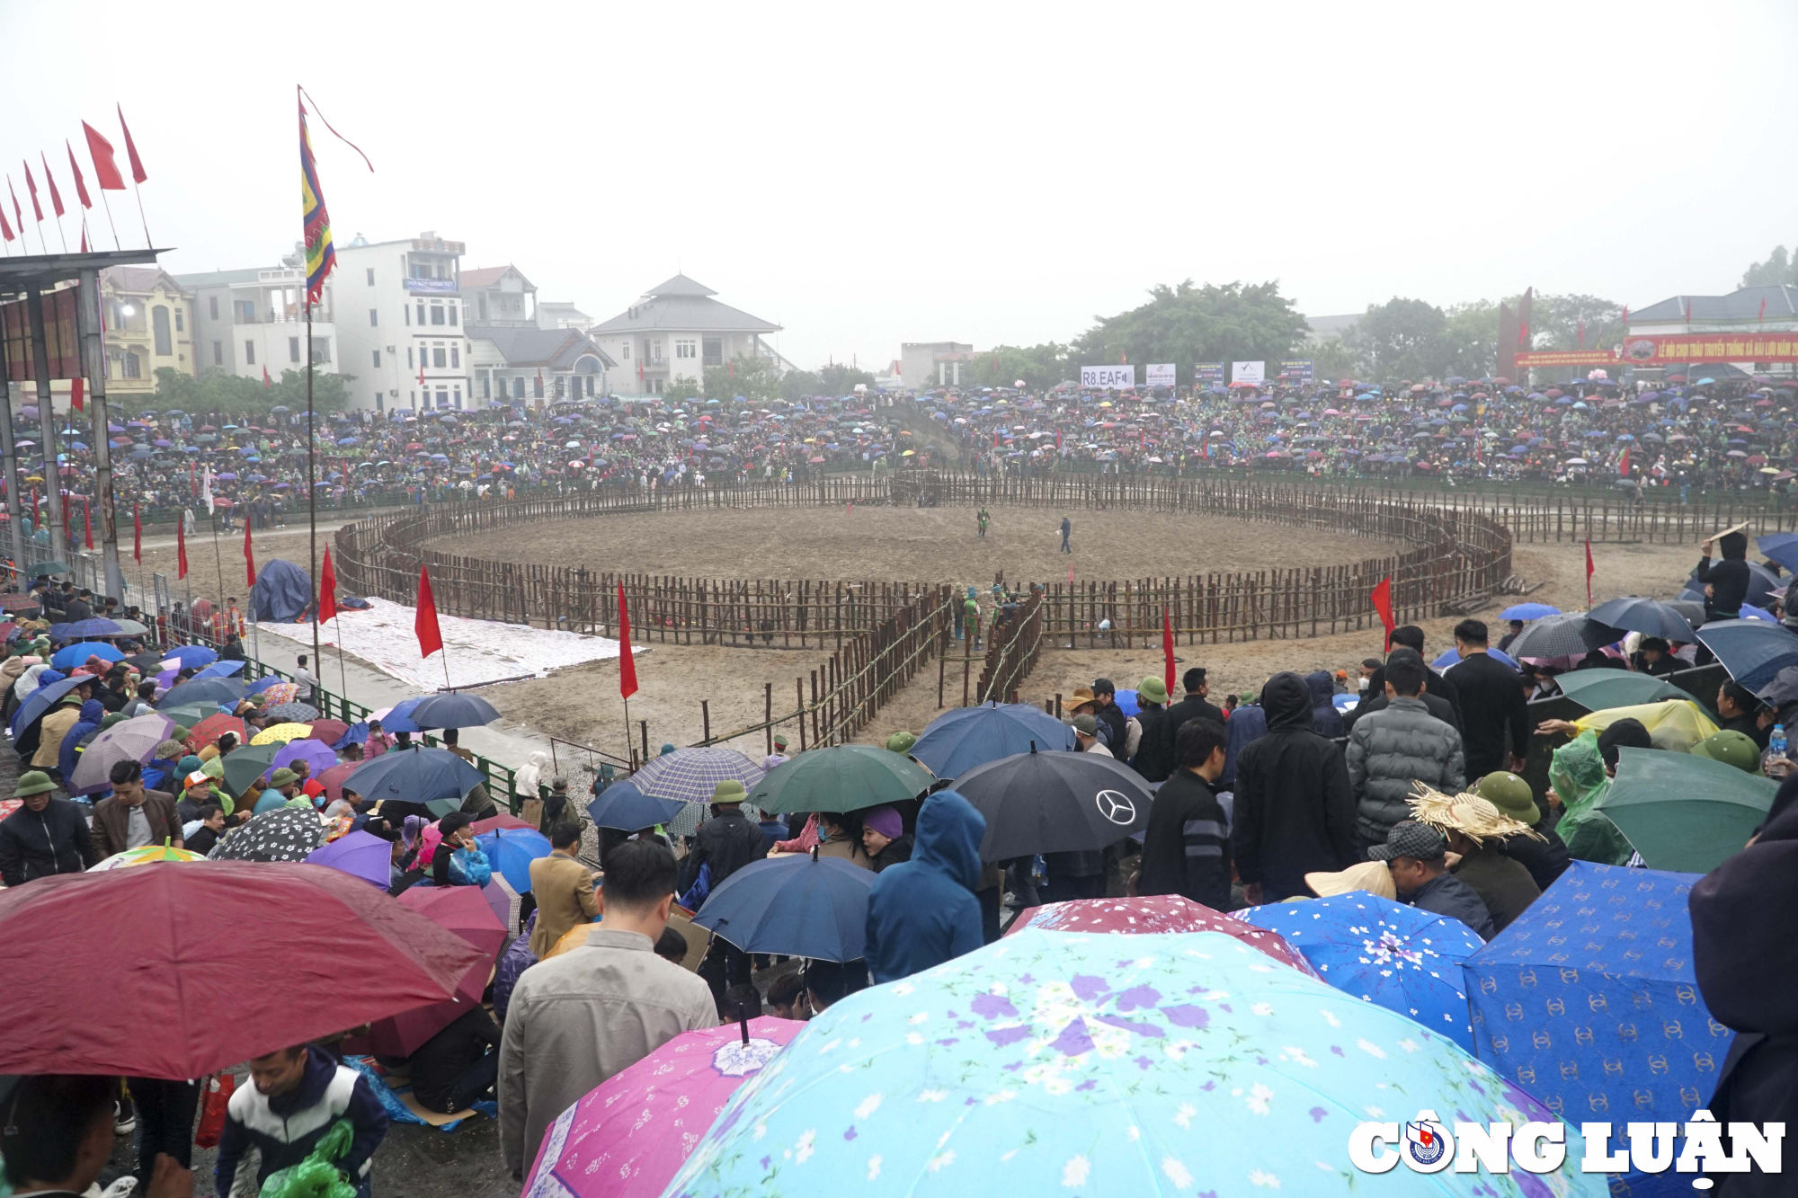
<path fill-rule="evenodd" d="M 620 396 L 660 396 L 676 380 L 699 381 L 705 367 L 732 358 L 766 358 L 786 374 L 791 363 L 762 336 L 780 326 L 721 304 L 717 291 L 674 275 L 635 304 L 588 329 L 599 349 L 619 363 L 611 390 Z"/>

